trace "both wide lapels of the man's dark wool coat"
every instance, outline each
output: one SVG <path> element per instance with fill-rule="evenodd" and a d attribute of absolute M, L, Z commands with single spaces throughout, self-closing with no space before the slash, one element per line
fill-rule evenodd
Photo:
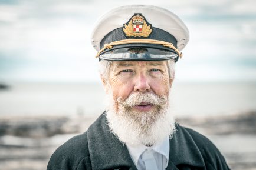
<path fill-rule="evenodd" d="M 176 165 L 188 164 L 202 167 L 204 160 L 191 135 L 179 125 L 170 139 L 169 163 L 166 169 L 176 169 Z M 110 132 L 104 113 L 90 126 L 87 132 L 88 149 L 92 169 L 130 167 L 136 169 L 126 145 Z"/>

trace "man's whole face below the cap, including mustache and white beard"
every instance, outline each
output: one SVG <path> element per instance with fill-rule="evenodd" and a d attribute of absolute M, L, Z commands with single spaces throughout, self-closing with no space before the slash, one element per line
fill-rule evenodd
<path fill-rule="evenodd" d="M 167 61 L 115 61 L 106 85 L 107 120 L 111 131 L 126 144 L 150 146 L 175 131 L 170 112 Z"/>

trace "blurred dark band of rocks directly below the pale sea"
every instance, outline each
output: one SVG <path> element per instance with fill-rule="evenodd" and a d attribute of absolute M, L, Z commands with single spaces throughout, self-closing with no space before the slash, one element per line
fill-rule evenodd
<path fill-rule="evenodd" d="M 96 117 L 77 116 L 12 117 L 0 118 L 0 136 L 14 135 L 30 138 L 44 138 L 57 134 L 72 134 L 85 131 Z M 256 135 L 256 111 L 225 116 L 191 116 L 178 118 L 177 122 L 184 126 L 200 127 L 206 134 Z"/>

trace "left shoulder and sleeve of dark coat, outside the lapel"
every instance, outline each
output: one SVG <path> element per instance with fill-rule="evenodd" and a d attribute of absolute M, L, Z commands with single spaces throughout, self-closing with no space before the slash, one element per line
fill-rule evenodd
<path fill-rule="evenodd" d="M 84 132 L 57 148 L 48 162 L 47 170 L 79 169 L 80 166 L 90 165 L 89 157 L 87 132 Z M 90 167 L 86 169 L 90 169 Z"/>

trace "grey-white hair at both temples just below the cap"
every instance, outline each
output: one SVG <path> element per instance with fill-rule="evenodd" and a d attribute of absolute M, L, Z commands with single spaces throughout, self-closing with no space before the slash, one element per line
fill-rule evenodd
<path fill-rule="evenodd" d="M 104 79 L 104 81 L 108 82 L 109 80 L 109 74 L 111 70 L 111 64 L 113 61 L 107 61 L 104 59 L 101 59 L 100 61 L 100 75 Z M 175 72 L 175 61 L 174 59 L 168 59 L 167 60 L 167 66 L 168 66 L 168 73 L 169 73 L 169 78 L 173 79 L 174 78 L 174 72 Z"/>

